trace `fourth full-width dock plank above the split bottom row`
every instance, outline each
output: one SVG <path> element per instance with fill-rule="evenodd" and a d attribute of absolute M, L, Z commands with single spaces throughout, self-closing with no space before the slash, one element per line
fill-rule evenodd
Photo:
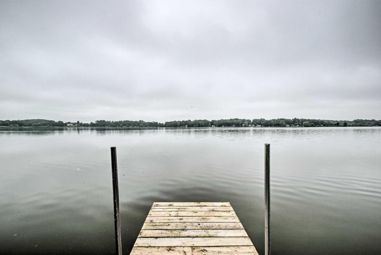
<path fill-rule="evenodd" d="M 182 216 L 182 217 L 151 217 L 146 218 L 146 222 L 239 222 L 237 216 Z"/>

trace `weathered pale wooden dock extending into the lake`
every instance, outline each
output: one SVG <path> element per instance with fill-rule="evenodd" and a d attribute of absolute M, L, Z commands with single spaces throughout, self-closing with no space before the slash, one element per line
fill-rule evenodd
<path fill-rule="evenodd" d="M 229 202 L 154 203 L 131 255 L 258 255 Z"/>

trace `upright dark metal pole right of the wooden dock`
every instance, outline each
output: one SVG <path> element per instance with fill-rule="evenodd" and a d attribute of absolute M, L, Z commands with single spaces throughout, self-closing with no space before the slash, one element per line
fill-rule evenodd
<path fill-rule="evenodd" d="M 270 144 L 264 144 L 264 254 L 270 255 Z"/>

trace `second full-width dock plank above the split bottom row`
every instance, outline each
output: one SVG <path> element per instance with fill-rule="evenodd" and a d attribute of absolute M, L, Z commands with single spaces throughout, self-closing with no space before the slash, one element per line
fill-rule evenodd
<path fill-rule="evenodd" d="M 244 229 L 143 229 L 138 237 L 247 237 Z"/>

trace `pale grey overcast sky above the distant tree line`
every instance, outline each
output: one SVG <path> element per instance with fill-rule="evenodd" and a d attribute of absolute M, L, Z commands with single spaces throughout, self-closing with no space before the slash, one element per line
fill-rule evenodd
<path fill-rule="evenodd" d="M 381 1 L 0 0 L 0 119 L 381 119 Z"/>

